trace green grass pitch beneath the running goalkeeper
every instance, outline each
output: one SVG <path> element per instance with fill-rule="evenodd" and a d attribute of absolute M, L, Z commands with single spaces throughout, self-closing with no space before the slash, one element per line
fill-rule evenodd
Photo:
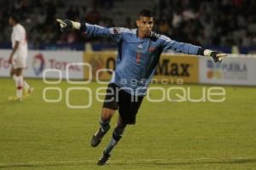
<path fill-rule="evenodd" d="M 8 100 L 9 95 L 15 94 L 13 80 L 0 79 L 0 169 L 256 168 L 256 88 L 226 86 L 222 103 L 151 103 L 144 99 L 137 124 L 127 127 L 108 166 L 98 167 L 96 161 L 112 135 L 109 131 L 102 144 L 90 147 L 102 103 L 94 96 L 90 108 L 70 109 L 66 92 L 76 85 L 46 85 L 39 79 L 27 82 L 35 88 L 34 94 L 17 102 Z M 44 101 L 43 90 L 48 86 L 61 88 L 60 102 Z M 79 87 L 95 92 L 100 85 L 91 82 Z M 191 94 L 198 97 L 203 87 L 210 86 L 183 87 L 190 87 Z M 156 99 L 159 95 L 154 92 L 151 97 Z M 56 96 L 53 91 L 47 94 L 49 99 Z M 86 93 L 73 91 L 69 101 L 82 105 L 86 98 Z"/>

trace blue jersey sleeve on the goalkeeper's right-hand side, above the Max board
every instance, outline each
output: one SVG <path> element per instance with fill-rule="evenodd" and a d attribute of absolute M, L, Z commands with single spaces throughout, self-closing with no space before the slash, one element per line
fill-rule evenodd
<path fill-rule="evenodd" d="M 177 42 L 170 37 L 160 36 L 163 45 L 163 51 L 173 50 L 183 54 L 198 54 L 201 47 L 192 45 L 190 43 Z"/>

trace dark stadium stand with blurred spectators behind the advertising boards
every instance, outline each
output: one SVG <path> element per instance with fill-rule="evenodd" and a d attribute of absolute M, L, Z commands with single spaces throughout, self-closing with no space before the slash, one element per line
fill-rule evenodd
<path fill-rule="evenodd" d="M 37 47 L 40 43 L 92 41 L 78 31 L 61 33 L 55 23 L 56 17 L 86 20 L 107 27 L 133 28 L 141 8 L 153 9 L 155 30 L 177 41 L 205 46 L 256 45 L 256 2 L 253 0 L 0 1 L 0 42 L 10 41 L 9 11 L 19 14 L 22 23 L 25 23 L 30 44 Z"/>

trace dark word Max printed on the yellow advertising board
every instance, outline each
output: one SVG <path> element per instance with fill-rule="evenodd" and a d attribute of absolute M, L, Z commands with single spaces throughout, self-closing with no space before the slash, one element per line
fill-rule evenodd
<path fill-rule="evenodd" d="M 163 59 L 158 63 L 154 75 L 165 75 L 172 77 L 189 77 L 190 64 L 187 63 L 171 63 L 170 59 Z"/>

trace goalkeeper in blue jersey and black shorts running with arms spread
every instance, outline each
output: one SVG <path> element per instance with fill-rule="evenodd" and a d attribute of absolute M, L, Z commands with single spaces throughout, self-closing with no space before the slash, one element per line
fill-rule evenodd
<path fill-rule="evenodd" d="M 218 54 L 189 43 L 176 42 L 169 37 L 152 31 L 154 18 L 150 10 L 143 9 L 137 17 L 137 29 L 105 28 L 102 26 L 79 23 L 72 20 L 60 20 L 61 31 L 77 29 L 94 37 L 109 37 L 118 45 L 116 69 L 108 84 L 107 94 L 102 106 L 100 127 L 91 139 L 91 146 L 101 143 L 108 133 L 109 122 L 116 110 L 119 110 L 117 126 L 113 129 L 113 137 L 103 150 L 98 165 L 108 163 L 110 153 L 122 138 L 125 127 L 135 124 L 137 111 L 142 104 L 143 96 L 154 76 L 160 54 L 166 50 L 174 50 L 184 54 L 196 54 L 212 57 L 220 62 L 226 54 Z"/>

